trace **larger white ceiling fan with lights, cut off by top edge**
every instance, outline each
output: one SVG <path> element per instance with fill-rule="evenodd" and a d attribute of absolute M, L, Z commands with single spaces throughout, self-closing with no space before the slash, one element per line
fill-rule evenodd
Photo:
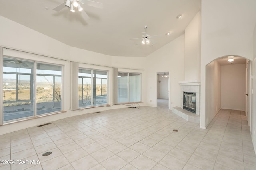
<path fill-rule="evenodd" d="M 102 3 L 91 1 L 91 0 L 85 0 L 85 2 L 83 2 L 83 0 L 66 0 L 65 2 L 63 2 L 60 5 L 53 8 L 53 10 L 58 12 L 58 11 L 62 10 L 63 8 L 68 7 L 68 8 L 70 8 L 70 11 L 75 12 L 76 10 L 78 10 L 81 12 L 84 19 L 89 19 L 88 14 L 86 14 L 86 12 L 83 10 L 83 8 L 80 4 L 85 4 L 85 5 L 92 6 L 95 8 L 100 8 L 100 9 L 103 8 Z"/>

